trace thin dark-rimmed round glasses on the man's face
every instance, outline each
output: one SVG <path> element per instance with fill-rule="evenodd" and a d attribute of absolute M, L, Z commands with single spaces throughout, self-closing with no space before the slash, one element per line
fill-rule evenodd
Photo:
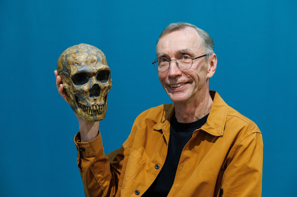
<path fill-rule="evenodd" d="M 179 57 L 177 57 L 175 59 L 176 65 L 182 69 L 182 70 L 188 70 L 191 68 L 192 64 L 193 64 L 193 60 L 198 59 L 200 57 L 204 57 L 207 55 L 211 55 L 211 53 L 207 53 L 204 55 L 201 55 L 199 57 L 195 57 L 192 58 L 189 55 L 183 54 L 180 55 Z M 174 59 L 173 59 L 174 60 Z M 155 68 L 159 71 L 159 72 L 166 72 L 169 67 L 170 67 L 170 62 L 172 60 L 168 59 L 167 57 L 159 57 L 157 58 L 152 64 L 154 64 Z"/>

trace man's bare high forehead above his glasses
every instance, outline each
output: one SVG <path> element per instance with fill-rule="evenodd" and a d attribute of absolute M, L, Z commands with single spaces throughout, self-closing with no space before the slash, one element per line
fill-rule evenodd
<path fill-rule="evenodd" d="M 185 49 L 193 53 L 200 50 L 200 36 L 192 27 L 172 31 L 161 37 L 157 44 L 157 53 L 175 54 Z"/>

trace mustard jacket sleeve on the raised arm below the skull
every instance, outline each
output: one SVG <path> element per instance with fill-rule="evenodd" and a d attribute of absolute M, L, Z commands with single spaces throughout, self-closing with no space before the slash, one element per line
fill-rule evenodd
<path fill-rule="evenodd" d="M 118 182 L 126 142 L 121 148 L 105 156 L 100 132 L 90 142 L 80 142 L 80 134 L 77 133 L 74 141 L 78 151 L 77 165 L 85 196 L 115 196 L 117 192 L 120 192 Z"/>

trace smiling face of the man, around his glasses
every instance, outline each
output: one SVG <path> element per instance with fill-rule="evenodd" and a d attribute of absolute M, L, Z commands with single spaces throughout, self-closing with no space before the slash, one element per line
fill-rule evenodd
<path fill-rule="evenodd" d="M 176 30 L 160 38 L 157 45 L 157 58 L 176 57 L 188 54 L 192 58 L 204 55 L 200 47 L 200 36 L 192 27 Z M 170 62 L 169 70 L 159 72 L 159 80 L 174 103 L 199 102 L 205 94 L 209 93 L 208 79 L 213 76 L 216 69 L 216 55 L 209 55 L 193 60 L 193 65 L 188 70 L 177 67 L 175 61 Z"/>

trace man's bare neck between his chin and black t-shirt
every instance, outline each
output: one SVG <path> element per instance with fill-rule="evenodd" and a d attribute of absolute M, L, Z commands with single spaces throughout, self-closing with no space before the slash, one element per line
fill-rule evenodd
<path fill-rule="evenodd" d="M 209 91 L 194 101 L 174 103 L 175 117 L 179 123 L 192 123 L 209 114 L 213 100 Z"/>

